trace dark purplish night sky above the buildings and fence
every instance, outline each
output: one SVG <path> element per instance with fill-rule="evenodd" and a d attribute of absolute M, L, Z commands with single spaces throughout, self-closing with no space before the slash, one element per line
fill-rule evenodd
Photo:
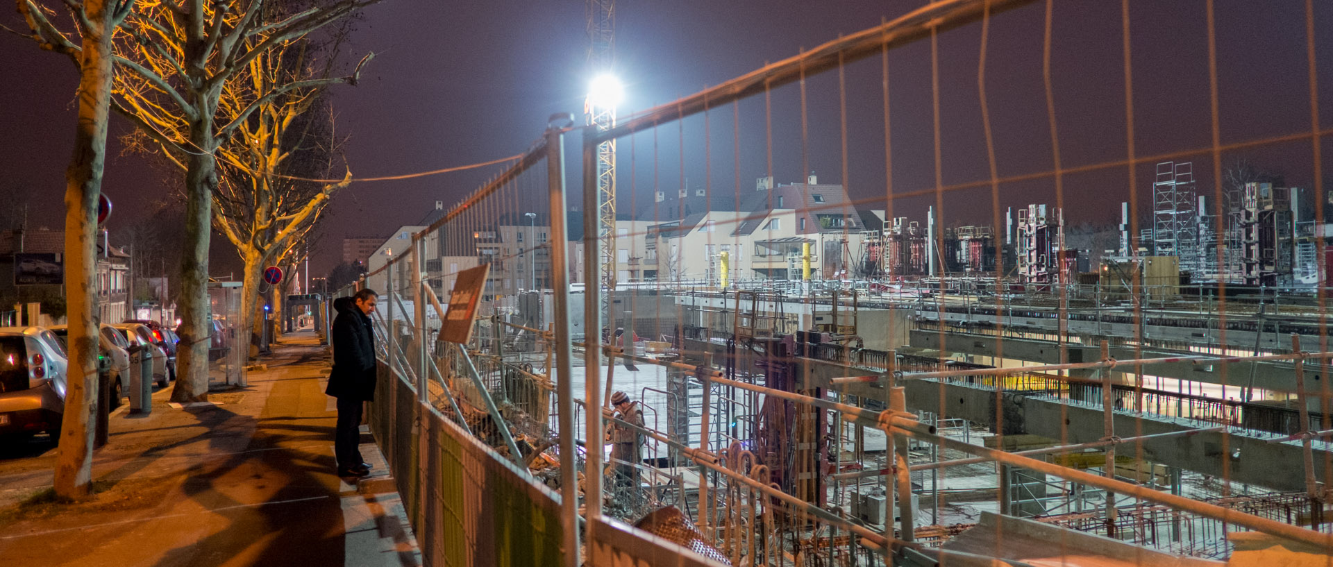
<path fill-rule="evenodd" d="M 1125 91 L 1118 1 L 1056 3 L 1052 88 L 1065 169 L 1125 160 Z M 670 1 L 617 3 L 617 71 L 627 83 L 621 114 L 753 71 L 893 19 L 920 1 Z M 1316 52 L 1321 129 L 1333 128 L 1333 3 L 1316 1 Z M 1221 144 L 1310 132 L 1305 3 L 1217 1 L 1217 68 Z M 527 149 L 555 112 L 580 112 L 587 84 L 583 1 L 451 3 L 387 0 L 367 11 L 351 52 L 377 53 L 357 87 L 337 88 L 337 128 L 352 136 L 347 149 L 356 176 L 391 176 L 489 161 Z M 986 96 L 1001 177 L 1053 169 L 1050 125 L 1042 80 L 1045 3 L 993 17 L 988 48 Z M 7 25 L 16 24 L 11 13 Z M 1200 152 L 1193 160 L 1200 192 L 1212 194 L 1208 23 L 1204 1 L 1133 1 L 1130 5 L 1134 129 L 1137 156 Z M 941 166 L 945 186 L 984 181 L 989 166 L 977 93 L 981 25 L 938 37 Z M 63 56 L 0 35 L 0 189 L 27 193 L 29 228 L 63 222 L 64 168 L 73 133 L 76 71 Z M 918 41 L 889 53 L 893 190 L 929 190 L 934 181 L 930 98 L 930 44 Z M 772 140 L 778 182 L 804 178 L 804 162 L 821 182 L 842 182 L 868 208 L 885 194 L 884 102 L 880 57 L 846 67 L 848 180 L 842 180 L 837 73 L 806 81 L 806 141 L 796 85 L 772 93 Z M 733 109 L 706 117 L 712 148 L 708 186 L 729 194 L 766 174 L 762 97 L 740 102 L 741 146 L 734 150 Z M 113 136 L 125 124 L 113 118 Z M 684 130 L 685 177 L 705 184 L 704 120 L 645 133 L 621 142 L 621 198 L 631 198 L 628 149 L 635 149 L 633 200 L 651 202 L 652 164 L 657 188 L 673 190 L 680 178 L 678 138 Z M 163 174 L 145 160 L 121 156 L 117 140 L 103 190 L 116 204 L 119 228 L 145 222 L 144 210 L 165 198 Z M 802 152 L 804 149 L 804 152 Z M 1333 170 L 1333 140 L 1324 137 L 1324 172 Z M 1313 186 L 1309 140 L 1224 152 L 1282 173 L 1289 185 Z M 740 162 L 740 172 L 734 164 Z M 577 164 L 577 158 L 572 157 Z M 355 184 L 336 197 L 313 254 L 315 274 L 340 260 L 344 236 L 388 237 L 415 224 L 436 200 L 452 202 L 496 168 L 392 182 Z M 1138 166 L 1138 198 L 1146 210 L 1153 164 Z M 1112 166 L 1064 177 L 1066 218 L 1118 221 L 1128 200 L 1128 169 Z M 1333 185 L 1325 182 L 1326 190 Z M 872 202 L 872 201 L 878 202 Z M 1052 177 L 1002 184 L 1001 206 L 1054 204 Z M 894 200 L 896 216 L 925 220 L 933 194 Z M 990 188 L 946 193 L 945 224 L 990 220 Z M 115 237 L 113 237 L 115 238 Z M 215 236 L 213 272 L 235 269 L 229 246 Z"/>

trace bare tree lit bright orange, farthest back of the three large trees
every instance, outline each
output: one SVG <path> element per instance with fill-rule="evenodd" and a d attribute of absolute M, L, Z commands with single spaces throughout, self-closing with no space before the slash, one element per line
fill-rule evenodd
<path fill-rule="evenodd" d="M 269 1 L 261 13 L 265 20 L 281 21 L 309 5 L 305 0 Z M 276 265 L 279 256 L 319 221 L 329 198 L 351 181 L 351 173 L 336 182 L 309 181 L 329 174 L 343 142 L 333 128 L 325 89 L 336 83 L 331 79 L 349 21 L 329 25 L 317 37 L 312 33 L 272 47 L 227 81 L 219 97 L 219 117 L 237 128 L 217 146 L 213 228 L 236 246 L 244 265 L 241 337 L 253 337 L 257 330 L 264 268 Z M 283 89 L 291 84 L 308 87 Z M 173 148 L 147 136 L 139 136 L 136 145 L 156 145 L 168 161 L 183 169 L 187 165 Z"/>

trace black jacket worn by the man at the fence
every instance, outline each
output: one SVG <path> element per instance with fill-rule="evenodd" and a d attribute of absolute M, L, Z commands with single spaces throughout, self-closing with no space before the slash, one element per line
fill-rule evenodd
<path fill-rule="evenodd" d="M 335 398 L 375 399 L 375 333 L 352 298 L 333 301 L 333 370 L 325 394 Z"/>

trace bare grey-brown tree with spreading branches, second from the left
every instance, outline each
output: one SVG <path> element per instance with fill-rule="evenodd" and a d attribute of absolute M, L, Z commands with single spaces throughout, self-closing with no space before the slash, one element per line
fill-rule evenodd
<path fill-rule="evenodd" d="M 208 397 L 208 244 L 219 148 L 239 136 L 267 102 L 303 89 L 355 84 L 360 65 L 341 77 L 249 85 L 243 85 L 237 77 L 273 49 L 376 3 L 379 0 L 311 3 L 305 9 L 284 15 L 265 11 L 264 0 L 161 1 L 145 4 L 120 28 L 119 40 L 113 43 L 119 72 L 112 108 L 167 149 L 164 154 L 185 172 L 180 268 L 183 325 L 176 359 L 180 381 L 172 401 Z M 32 25 L 39 33 L 64 39 L 49 19 L 33 19 Z M 224 113 L 221 104 L 228 96 L 236 97 L 236 110 Z"/>

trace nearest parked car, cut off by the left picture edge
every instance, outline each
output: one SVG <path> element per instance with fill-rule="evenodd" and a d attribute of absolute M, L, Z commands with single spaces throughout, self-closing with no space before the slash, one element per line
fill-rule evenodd
<path fill-rule="evenodd" d="M 47 329 L 0 327 L 0 434 L 60 438 L 65 410 L 64 347 Z"/>

